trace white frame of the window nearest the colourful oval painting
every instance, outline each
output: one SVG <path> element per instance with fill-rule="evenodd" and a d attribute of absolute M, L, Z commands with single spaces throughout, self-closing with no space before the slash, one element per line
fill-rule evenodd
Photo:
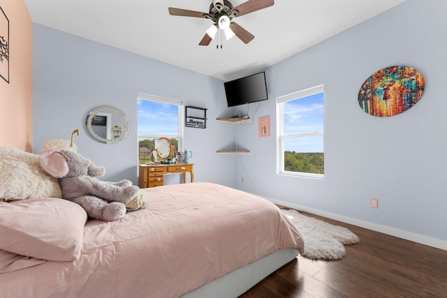
<path fill-rule="evenodd" d="M 324 154 L 324 112 L 323 112 L 323 131 L 310 131 L 305 133 L 290 133 L 284 135 L 284 103 L 312 96 L 314 94 L 323 93 L 324 106 L 324 85 L 318 85 L 301 91 L 296 91 L 291 94 L 279 96 L 277 98 L 277 174 L 295 176 L 295 177 L 309 177 L 316 179 L 323 179 L 324 174 L 307 173 L 307 172 L 293 172 L 284 170 L 284 140 L 295 137 L 309 137 L 323 135 L 323 154 Z M 324 107 L 323 107 L 324 109 Z"/>

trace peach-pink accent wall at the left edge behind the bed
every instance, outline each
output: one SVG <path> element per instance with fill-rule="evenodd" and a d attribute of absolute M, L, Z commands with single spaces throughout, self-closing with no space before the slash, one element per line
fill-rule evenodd
<path fill-rule="evenodd" d="M 23 0 L 0 0 L 0 7 L 9 20 L 10 42 L 9 84 L 0 77 L 0 146 L 32 152 L 33 28 L 31 17 Z M 1 11 L 0 17 L 4 19 Z M 0 28 L 0 36 L 2 30 Z"/>

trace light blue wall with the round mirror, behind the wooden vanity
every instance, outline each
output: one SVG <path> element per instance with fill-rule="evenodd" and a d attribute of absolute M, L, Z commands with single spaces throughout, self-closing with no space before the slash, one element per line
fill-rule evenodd
<path fill-rule="evenodd" d="M 38 24 L 33 30 L 34 153 L 40 153 L 45 140 L 69 140 L 78 128 L 78 151 L 106 167 L 103 179 L 138 184 L 137 93 L 150 94 L 208 109 L 206 129 L 184 128 L 183 149 L 193 151 L 196 181 L 233 186 L 228 173 L 234 163 L 228 161 L 234 156 L 215 153 L 234 133 L 233 126 L 212 121 L 228 112 L 223 81 Z M 88 134 L 87 114 L 100 105 L 128 116 L 131 129 L 122 142 L 104 144 Z"/>

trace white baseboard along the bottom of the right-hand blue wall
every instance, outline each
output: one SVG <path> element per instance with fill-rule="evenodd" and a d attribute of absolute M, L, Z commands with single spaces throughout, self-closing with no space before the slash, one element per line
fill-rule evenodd
<path fill-rule="evenodd" d="M 261 196 L 261 195 L 258 195 L 258 196 Z M 263 197 L 263 198 L 265 198 L 265 197 Z M 376 232 L 381 232 L 383 234 L 388 234 L 388 235 L 391 235 L 394 237 L 399 237 L 402 239 L 417 242 L 420 244 L 425 244 L 427 246 L 432 246 L 432 247 L 440 248 L 440 249 L 443 249 L 444 251 L 447 251 L 447 241 L 445 241 L 445 240 L 441 240 L 441 239 L 437 239 L 437 238 L 433 238 L 433 237 L 427 237 L 427 236 L 424 236 L 421 234 L 416 234 L 416 233 L 412 233 L 412 232 L 408 232 L 408 231 L 404 231 L 404 230 L 400 230 L 400 229 L 396 229 L 396 228 L 391 228 L 391 227 L 388 227 L 387 225 L 379 225 L 377 223 L 371 223 L 369 221 L 362 221 L 357 218 L 351 218 L 348 216 L 342 216 L 339 214 L 321 211 L 318 209 L 308 208 L 305 206 L 292 204 L 290 202 L 283 202 L 280 200 L 274 200 L 272 198 L 265 198 L 265 199 L 269 200 L 270 202 L 272 202 L 274 204 L 279 204 L 284 207 L 297 209 L 297 210 L 307 212 L 310 214 L 315 214 L 318 216 L 323 216 L 325 218 L 330 218 L 335 221 L 341 221 L 342 223 L 349 223 L 350 225 L 356 225 L 361 228 L 373 230 Z"/>

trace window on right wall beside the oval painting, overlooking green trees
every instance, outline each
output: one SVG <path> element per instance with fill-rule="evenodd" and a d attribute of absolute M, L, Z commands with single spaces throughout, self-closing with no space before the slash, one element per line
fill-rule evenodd
<path fill-rule="evenodd" d="M 323 178 L 323 85 L 277 99 L 279 174 Z"/>

